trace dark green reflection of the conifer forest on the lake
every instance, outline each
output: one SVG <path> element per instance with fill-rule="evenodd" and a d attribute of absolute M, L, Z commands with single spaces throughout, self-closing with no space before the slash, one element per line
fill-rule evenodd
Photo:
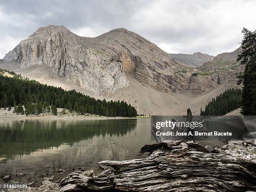
<path fill-rule="evenodd" d="M 124 136 L 136 127 L 135 119 L 127 120 L 47 120 L 26 119 L 23 123 L 0 121 L 0 155 L 14 159 L 17 154 L 30 154 L 38 149 L 73 145 L 93 137 Z"/>

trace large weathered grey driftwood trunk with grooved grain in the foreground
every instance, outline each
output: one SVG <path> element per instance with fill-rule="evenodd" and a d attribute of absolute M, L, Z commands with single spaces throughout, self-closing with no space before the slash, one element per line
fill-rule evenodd
<path fill-rule="evenodd" d="M 99 162 L 112 169 L 95 177 L 71 173 L 60 182 L 60 191 L 256 190 L 256 164 L 253 161 L 223 152 L 213 154 L 204 147 L 189 142 L 154 143 L 151 148 L 153 152 L 144 159 Z M 145 150 L 142 148 L 140 154 L 143 151 Z"/>

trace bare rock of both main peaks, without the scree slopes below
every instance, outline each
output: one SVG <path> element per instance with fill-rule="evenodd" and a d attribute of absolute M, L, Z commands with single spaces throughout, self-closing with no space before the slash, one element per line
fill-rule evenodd
<path fill-rule="evenodd" d="M 127 87 L 126 74 L 168 93 L 189 90 L 190 94 L 200 94 L 217 85 L 214 78 L 191 79 L 194 69 L 174 72 L 174 68 L 180 69 L 180 63 L 155 44 L 123 28 L 87 38 L 64 26 L 41 27 L 3 59 L 3 63 L 14 61 L 24 68 L 46 64 L 59 76 L 102 96 Z"/>

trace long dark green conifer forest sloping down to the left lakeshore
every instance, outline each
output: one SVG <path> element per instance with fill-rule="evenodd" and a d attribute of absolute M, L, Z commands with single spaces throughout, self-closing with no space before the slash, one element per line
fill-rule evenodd
<path fill-rule="evenodd" d="M 123 101 L 96 100 L 80 92 L 65 91 L 60 87 L 40 84 L 34 80 L 4 77 L 0 74 L 0 108 L 15 107 L 16 113 L 40 114 L 45 111 L 56 115 L 56 108 L 80 114 L 91 113 L 109 117 L 136 117 L 136 109 Z M 23 111 L 22 105 L 26 110 Z M 50 107 L 51 106 L 51 107 Z"/>

